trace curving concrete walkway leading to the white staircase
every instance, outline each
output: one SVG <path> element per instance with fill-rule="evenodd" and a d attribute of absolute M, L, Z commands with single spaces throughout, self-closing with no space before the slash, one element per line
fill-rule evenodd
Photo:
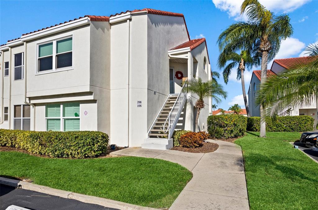
<path fill-rule="evenodd" d="M 219 148 L 212 153 L 126 148 L 111 156 L 159 158 L 178 163 L 193 173 L 170 210 L 249 209 L 241 148 L 225 141 L 208 140 Z"/>

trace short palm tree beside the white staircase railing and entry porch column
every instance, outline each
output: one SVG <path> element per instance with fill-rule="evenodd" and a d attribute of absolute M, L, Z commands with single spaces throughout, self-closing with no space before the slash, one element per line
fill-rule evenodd
<path fill-rule="evenodd" d="M 224 91 L 223 86 L 214 80 L 209 80 L 207 82 L 202 82 L 202 79 L 199 77 L 198 79 L 191 79 L 187 81 L 188 92 L 197 94 L 198 100 L 195 103 L 195 107 L 197 108 L 197 116 L 195 121 L 195 129 L 199 130 L 198 120 L 201 109 L 204 108 L 204 98 L 211 97 L 217 103 L 221 102 L 221 98 L 227 97 L 227 92 Z"/>

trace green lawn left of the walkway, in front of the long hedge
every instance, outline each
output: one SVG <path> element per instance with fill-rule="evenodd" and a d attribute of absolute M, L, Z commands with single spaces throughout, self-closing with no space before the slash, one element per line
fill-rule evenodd
<path fill-rule="evenodd" d="M 19 152 L 0 152 L 0 175 L 155 208 L 170 207 L 192 178 L 186 168 L 159 159 L 52 159 Z"/>

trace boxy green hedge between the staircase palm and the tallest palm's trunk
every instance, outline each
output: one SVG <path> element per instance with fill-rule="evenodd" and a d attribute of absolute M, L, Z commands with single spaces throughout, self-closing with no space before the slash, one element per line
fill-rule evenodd
<path fill-rule="evenodd" d="M 207 124 L 211 137 L 218 139 L 236 138 L 244 135 L 247 117 L 237 114 L 210 115 Z"/>

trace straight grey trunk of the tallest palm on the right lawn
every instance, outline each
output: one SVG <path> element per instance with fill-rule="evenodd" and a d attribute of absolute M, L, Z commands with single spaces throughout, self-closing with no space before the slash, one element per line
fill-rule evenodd
<path fill-rule="evenodd" d="M 260 83 L 264 83 L 267 78 L 267 59 L 268 51 L 262 52 L 262 64 L 261 64 L 261 80 Z M 266 137 L 266 122 L 265 122 L 265 108 L 260 105 L 260 137 Z"/>

